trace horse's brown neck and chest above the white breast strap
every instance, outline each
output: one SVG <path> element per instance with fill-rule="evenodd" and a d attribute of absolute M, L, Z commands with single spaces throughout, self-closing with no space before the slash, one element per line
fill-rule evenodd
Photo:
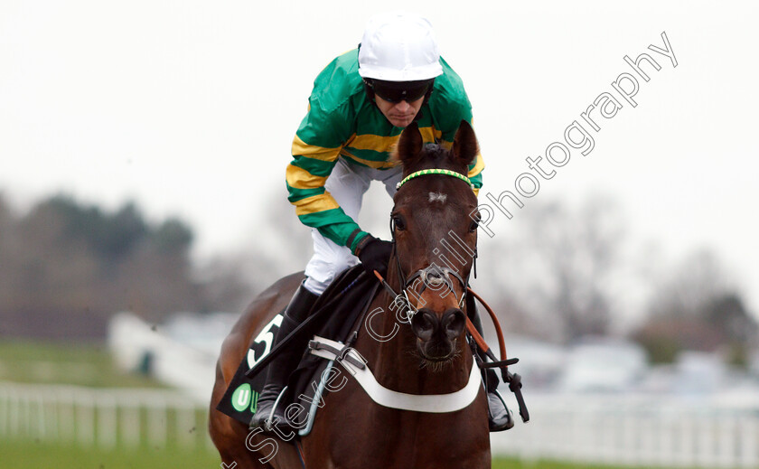
<path fill-rule="evenodd" d="M 388 282 L 400 294 L 402 286 L 398 285 L 393 259 L 390 260 Z M 410 324 L 398 321 L 403 314 L 396 314 L 398 308 L 391 306 L 392 302 L 391 295 L 379 291 L 369 309 L 370 314 L 375 314 L 370 316 L 370 324 L 365 322 L 356 343 L 379 383 L 410 394 L 445 394 L 464 388 L 473 366 L 472 351 L 466 342 L 460 339 L 459 355 L 441 370 L 422 367 L 417 337 Z"/>

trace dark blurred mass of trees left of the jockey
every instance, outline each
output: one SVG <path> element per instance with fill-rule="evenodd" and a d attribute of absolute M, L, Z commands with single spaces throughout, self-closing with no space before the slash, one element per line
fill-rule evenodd
<path fill-rule="evenodd" d="M 0 230 L 0 333 L 102 337 L 119 310 L 159 320 L 207 304 L 192 230 L 153 226 L 134 203 L 108 213 L 56 195 L 15 218 L 0 200 Z"/>

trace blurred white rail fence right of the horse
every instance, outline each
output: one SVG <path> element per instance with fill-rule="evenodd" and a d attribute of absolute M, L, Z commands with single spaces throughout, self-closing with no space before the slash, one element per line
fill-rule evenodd
<path fill-rule="evenodd" d="M 531 396 L 532 421 L 491 435 L 492 454 L 613 466 L 759 467 L 759 400 Z"/>

